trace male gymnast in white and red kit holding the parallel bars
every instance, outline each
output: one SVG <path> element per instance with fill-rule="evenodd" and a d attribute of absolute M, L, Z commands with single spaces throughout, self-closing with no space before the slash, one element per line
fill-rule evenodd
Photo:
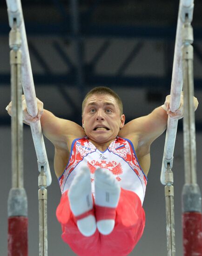
<path fill-rule="evenodd" d="M 126 256 L 140 240 L 145 213 L 142 203 L 150 167 L 150 146 L 166 129 L 172 113 L 170 95 L 149 115 L 125 124 L 120 97 L 110 88 L 96 87 L 82 103 L 82 127 L 43 109 L 27 113 L 25 123 L 41 122 L 43 134 L 55 148 L 54 170 L 61 187 L 56 216 L 62 239 L 79 256 Z M 7 106 L 11 115 L 12 102 Z M 196 110 L 198 101 L 194 97 Z"/>

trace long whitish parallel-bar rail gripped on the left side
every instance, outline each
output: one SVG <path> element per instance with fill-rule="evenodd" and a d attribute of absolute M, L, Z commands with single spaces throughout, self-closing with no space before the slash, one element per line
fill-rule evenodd
<path fill-rule="evenodd" d="M 20 0 L 7 0 L 7 11 L 9 25 L 13 26 L 13 20 L 17 23 L 20 28 L 21 35 L 21 51 L 22 51 L 22 87 L 25 94 L 27 103 L 27 112 L 29 115 L 35 117 L 38 113 L 36 94 L 34 88 L 34 80 L 31 68 L 31 62 L 29 57 L 27 35 L 25 30 L 25 24 L 23 19 L 22 7 Z M 46 148 L 43 140 L 42 130 L 40 121 L 31 123 L 30 128 L 32 131 L 32 137 L 34 141 L 34 147 L 38 159 L 38 168 L 41 171 L 43 167 L 44 172 L 47 176 L 47 186 L 52 182 L 50 167 L 47 160 Z"/>

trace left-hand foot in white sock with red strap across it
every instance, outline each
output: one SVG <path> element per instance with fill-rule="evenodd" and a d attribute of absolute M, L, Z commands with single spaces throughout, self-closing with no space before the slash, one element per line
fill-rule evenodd
<path fill-rule="evenodd" d="M 93 211 L 90 171 L 83 168 L 75 176 L 68 191 L 70 209 L 77 219 L 77 227 L 84 236 L 92 236 L 96 231 Z"/>

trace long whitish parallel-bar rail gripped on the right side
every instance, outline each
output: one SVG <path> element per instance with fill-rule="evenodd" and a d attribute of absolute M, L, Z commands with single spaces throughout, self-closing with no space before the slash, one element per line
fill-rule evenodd
<path fill-rule="evenodd" d="M 170 110 L 175 112 L 180 107 L 180 97 L 183 85 L 182 75 L 182 25 L 185 21 L 185 16 L 188 15 L 190 19 L 193 17 L 194 0 L 181 0 L 178 20 L 177 20 L 177 31 L 175 38 L 175 52 L 173 62 L 173 72 L 171 81 L 171 99 L 170 99 Z M 165 183 L 165 173 L 167 168 L 173 166 L 173 153 L 175 148 L 175 138 L 177 133 L 178 120 L 168 116 L 168 125 L 166 132 L 166 140 L 164 146 L 163 160 L 162 160 L 162 171 L 161 171 L 161 182 Z"/>

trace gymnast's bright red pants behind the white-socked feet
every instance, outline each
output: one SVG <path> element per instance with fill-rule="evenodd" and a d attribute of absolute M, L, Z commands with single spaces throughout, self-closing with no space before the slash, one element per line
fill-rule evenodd
<path fill-rule="evenodd" d="M 114 230 L 107 236 L 98 229 L 93 236 L 83 236 L 76 225 L 75 217 L 68 202 L 68 191 L 61 196 L 56 216 L 62 227 L 62 239 L 79 256 L 126 256 L 140 240 L 145 213 L 138 195 L 121 189 L 116 208 Z M 94 207 L 96 207 L 94 205 Z M 96 217 L 96 216 L 95 216 Z"/>

